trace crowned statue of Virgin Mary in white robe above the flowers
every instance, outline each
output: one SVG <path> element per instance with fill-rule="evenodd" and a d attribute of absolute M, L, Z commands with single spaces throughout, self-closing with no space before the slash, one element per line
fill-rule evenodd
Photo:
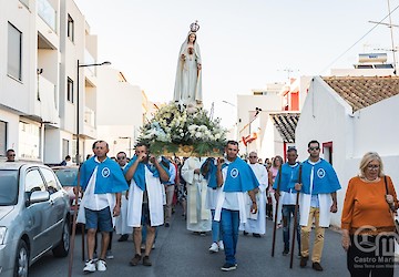
<path fill-rule="evenodd" d="M 202 62 L 196 31 L 200 25 L 191 24 L 178 52 L 176 81 L 173 101 L 183 105 L 202 105 Z"/>

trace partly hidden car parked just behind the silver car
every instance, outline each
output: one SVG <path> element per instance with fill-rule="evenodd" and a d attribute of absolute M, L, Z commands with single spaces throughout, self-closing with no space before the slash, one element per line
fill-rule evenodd
<path fill-rule="evenodd" d="M 53 166 L 51 167 L 53 172 L 55 173 L 57 177 L 59 178 L 63 189 L 68 192 L 68 195 L 70 196 L 70 204 L 71 204 L 71 219 L 73 218 L 74 214 L 74 206 L 75 206 L 75 179 L 78 176 L 79 167 L 78 166 Z M 81 193 L 79 193 L 78 197 L 78 208 L 81 201 Z M 79 211 L 79 209 L 78 209 Z"/>

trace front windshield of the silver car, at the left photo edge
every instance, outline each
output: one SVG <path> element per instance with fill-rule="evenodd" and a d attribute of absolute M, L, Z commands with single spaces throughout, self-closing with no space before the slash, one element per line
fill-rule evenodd
<path fill-rule="evenodd" d="M 16 205 L 18 199 L 18 171 L 0 171 L 0 206 Z"/>

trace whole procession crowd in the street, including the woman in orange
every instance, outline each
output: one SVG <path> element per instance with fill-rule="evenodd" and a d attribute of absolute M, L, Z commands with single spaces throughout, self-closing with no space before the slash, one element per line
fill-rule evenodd
<path fill-rule="evenodd" d="M 83 270 L 106 270 L 113 226 L 121 235 L 119 242 L 127 240 L 133 234 L 134 254 L 130 265 L 152 266 L 151 252 L 158 227 L 171 227 L 177 203 L 182 204 L 187 230 L 198 235 L 211 233 L 208 252 L 224 252 L 225 261 L 221 267 L 224 271 L 237 268 L 239 230 L 262 238 L 266 234 L 267 217 L 277 220 L 275 228 L 282 224 L 283 255 L 293 255 L 296 243 L 299 266 L 307 267 L 310 259 L 314 270 L 324 270 L 325 229 L 329 227 L 331 213 L 338 211 L 337 191 L 341 186 L 331 164 L 320 157 L 319 143 L 310 141 L 307 146 L 309 156 L 304 162 L 297 161 L 297 150 L 290 147 L 286 163 L 280 156 L 263 163 L 256 152 L 249 153 L 248 161 L 242 160 L 235 141 L 227 142 L 223 157 L 183 160 L 155 156 L 147 145 L 137 144 L 130 162 L 126 154 L 120 152 L 115 163 L 106 156 L 106 142 L 95 142 L 94 155 L 80 170 L 84 194 L 78 220 L 85 223 L 89 250 Z M 395 186 L 383 174 L 377 153 L 367 153 L 359 170 L 359 176 L 349 181 L 341 217 L 348 270 L 351 276 L 370 273 L 393 276 L 392 214 L 398 208 Z M 293 217 L 296 242 L 290 239 Z M 102 239 L 99 258 L 95 258 L 98 232 Z M 370 247 L 376 250 L 371 252 Z M 364 257 L 361 265 L 358 257 Z"/>

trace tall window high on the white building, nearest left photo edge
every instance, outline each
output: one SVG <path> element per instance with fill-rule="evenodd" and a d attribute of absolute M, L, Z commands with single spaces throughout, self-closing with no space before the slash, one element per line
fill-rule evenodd
<path fill-rule="evenodd" d="M 7 73 L 22 81 L 22 32 L 9 22 Z"/>

